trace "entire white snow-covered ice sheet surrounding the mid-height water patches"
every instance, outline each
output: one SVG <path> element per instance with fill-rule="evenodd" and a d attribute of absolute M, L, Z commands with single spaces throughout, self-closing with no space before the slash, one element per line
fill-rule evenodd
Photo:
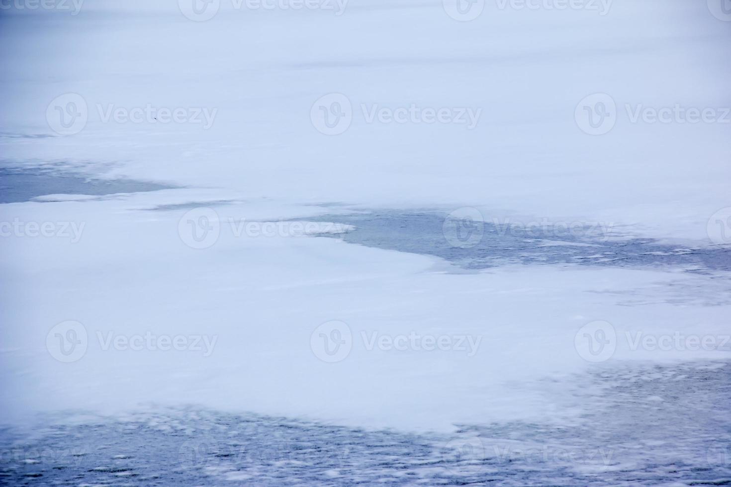
<path fill-rule="evenodd" d="M 468 272 L 314 237 L 352 230 L 337 219 L 352 208 L 477 207 L 523 224 L 611 222 L 623 238 L 719 243 L 708 223 L 731 205 L 729 124 L 618 115 L 591 136 L 574 112 L 591 93 L 610 93 L 620 111 L 728 106 L 727 24 L 702 1 L 613 2 L 607 15 L 496 5 L 466 23 L 439 1 L 385 0 L 351 0 L 342 15 L 223 1 L 206 22 L 147 1 L 1 15 L 13 46 L 0 73 L 12 93 L 3 165 L 171 186 L 0 204 L 0 222 L 22 229 L 0 241 L 4 422 L 197 404 L 418 432 L 565 426 L 590 408 L 575 377 L 728 361 L 727 272 Z M 89 107 L 67 136 L 46 120 L 64 93 Z M 342 134 L 311 121 L 327 93 L 354 107 Z M 200 107 L 213 119 L 104 122 L 97 106 L 110 104 Z M 470 130 L 368 123 L 361 104 L 482 112 Z M 48 235 L 29 223 L 50 223 Z M 606 333 L 609 356 L 578 345 Z M 68 355 L 59 338 L 80 348 Z M 347 348 L 333 356 L 322 338 Z"/>

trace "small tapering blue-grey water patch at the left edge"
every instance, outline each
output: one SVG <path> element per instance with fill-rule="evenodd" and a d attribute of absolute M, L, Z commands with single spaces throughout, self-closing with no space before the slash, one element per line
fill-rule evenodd
<path fill-rule="evenodd" d="M 48 169 L 0 169 L 0 204 L 27 202 L 48 194 L 89 194 L 101 196 L 114 193 L 158 191 L 170 186 L 132 180 L 90 179 L 67 172 Z"/>

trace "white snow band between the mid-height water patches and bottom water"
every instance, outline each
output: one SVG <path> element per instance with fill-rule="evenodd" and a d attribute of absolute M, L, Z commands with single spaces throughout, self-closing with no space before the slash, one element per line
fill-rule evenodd
<path fill-rule="evenodd" d="M 570 387 L 569 375 L 591 365 L 575 349 L 586 323 L 607 321 L 616 330 L 609 363 L 731 353 L 727 345 L 641 345 L 648 335 L 728 334 L 727 300 L 708 306 L 693 295 L 705 276 L 571 266 L 461 274 L 429 256 L 305 234 L 237 236 L 226 225 L 213 245 L 192 248 L 179 230 L 191 210 L 146 209 L 165 201 L 165 193 L 185 191 L 1 207 L 4 219 L 84 223 L 74 243 L 63 237 L 4 242 L 3 309 L 13 323 L 4 340 L 0 399 L 7 418 L 39 409 L 118 413 L 148 402 L 193 403 L 450 431 L 455 423 L 545 418 L 546 398 L 536 384 L 552 377 L 559 391 Z M 192 199 L 199 196 L 193 191 Z M 306 220 L 306 211 L 324 210 L 269 202 L 216 207 L 224 222 L 273 215 Z M 685 296 L 681 305 L 670 285 Z M 640 296 L 644 305 L 618 305 Z M 46 342 L 66 321 L 80 323 L 88 337 L 86 352 L 69 363 L 59 361 L 53 337 L 48 348 Z M 314 331 L 330 321 L 345 323 L 352 334 L 352 350 L 336 363 L 322 361 L 311 345 Z M 420 338 L 399 350 L 369 346 L 374 334 L 453 341 L 428 350 Z M 179 336 L 184 342 L 173 348 Z M 133 337 L 147 345 L 135 350 Z M 171 337 L 167 350 L 159 337 Z M 470 353 L 470 343 L 477 343 L 477 353 Z"/>

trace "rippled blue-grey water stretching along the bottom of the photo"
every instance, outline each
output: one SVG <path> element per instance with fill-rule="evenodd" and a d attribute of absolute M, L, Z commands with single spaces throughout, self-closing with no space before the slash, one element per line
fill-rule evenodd
<path fill-rule="evenodd" d="M 32 434 L 0 432 L 0 483 L 731 484 L 731 364 L 597 367 L 576 377 L 560 404 L 580 407 L 574 420 L 461 425 L 449 435 L 196 408 L 73 422 L 60 415 Z"/>

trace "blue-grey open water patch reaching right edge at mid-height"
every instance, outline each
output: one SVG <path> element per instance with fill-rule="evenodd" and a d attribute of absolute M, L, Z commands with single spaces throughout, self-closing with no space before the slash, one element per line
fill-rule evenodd
<path fill-rule="evenodd" d="M 444 258 L 466 269 L 504 264 L 662 266 L 689 272 L 731 271 L 731 248 L 668 245 L 623 237 L 594 223 L 565 229 L 548 224 L 460 221 L 436 211 L 384 210 L 328 215 L 319 221 L 355 226 L 346 234 L 322 234 L 368 247 Z"/>

